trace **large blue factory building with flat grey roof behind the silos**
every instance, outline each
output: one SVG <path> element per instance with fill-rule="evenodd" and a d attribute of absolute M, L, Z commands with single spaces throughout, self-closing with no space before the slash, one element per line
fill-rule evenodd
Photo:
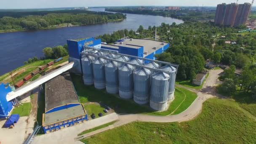
<path fill-rule="evenodd" d="M 67 45 L 69 51 L 69 62 L 75 62 L 75 66 L 71 71 L 78 74 L 82 73 L 80 53 L 83 51 L 83 46 L 108 49 L 117 51 L 118 53 L 152 60 L 155 60 L 155 54 L 163 53 L 170 47 L 169 43 L 132 38 L 117 40 L 114 44 L 109 45 L 101 43 L 101 39 L 95 39 L 94 37 L 85 40 L 67 40 Z M 145 62 L 147 63 L 147 61 Z"/>

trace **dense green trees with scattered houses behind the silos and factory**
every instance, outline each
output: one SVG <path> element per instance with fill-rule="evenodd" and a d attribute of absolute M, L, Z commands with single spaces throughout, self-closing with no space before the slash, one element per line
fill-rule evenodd
<path fill-rule="evenodd" d="M 160 61 L 179 64 L 179 80 L 194 78 L 203 70 L 208 59 L 216 64 L 234 64 L 237 68 L 243 69 L 245 65 L 256 62 L 256 33 L 240 35 L 237 33 L 238 30 L 240 29 L 216 27 L 211 22 L 186 21 L 179 25 L 163 23 L 157 27 L 157 35 L 160 40 L 170 43 L 171 47 L 156 57 Z M 147 29 L 140 26 L 137 32 L 140 32 L 140 35 L 136 35 L 133 30 L 124 29 L 111 35 L 100 35 L 99 38 L 107 43 L 115 42 L 124 34 L 132 38 L 153 39 L 155 26 Z M 225 44 L 226 40 L 235 41 L 237 44 Z"/>

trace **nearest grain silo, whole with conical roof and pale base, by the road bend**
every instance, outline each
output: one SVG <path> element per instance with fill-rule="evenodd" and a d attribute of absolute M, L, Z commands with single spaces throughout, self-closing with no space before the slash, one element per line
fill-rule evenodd
<path fill-rule="evenodd" d="M 151 76 L 151 91 L 149 105 L 157 111 L 168 108 L 168 87 L 170 77 L 164 72 L 156 72 Z"/>

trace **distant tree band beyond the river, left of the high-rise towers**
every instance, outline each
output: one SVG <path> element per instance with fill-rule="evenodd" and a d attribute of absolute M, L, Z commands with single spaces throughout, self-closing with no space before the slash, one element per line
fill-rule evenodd
<path fill-rule="evenodd" d="M 215 11 L 189 11 L 189 10 L 180 10 L 180 11 L 152 11 L 152 10 L 138 10 L 138 8 L 107 8 L 106 11 L 113 11 L 118 13 L 133 13 L 133 14 L 147 14 L 155 16 L 169 16 L 175 19 L 182 19 L 184 21 L 189 20 L 206 20 L 214 19 Z M 186 13 L 187 15 L 178 16 L 176 14 Z"/>

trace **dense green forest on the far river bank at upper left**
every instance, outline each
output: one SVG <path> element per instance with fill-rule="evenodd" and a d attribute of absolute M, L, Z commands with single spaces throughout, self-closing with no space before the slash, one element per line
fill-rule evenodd
<path fill-rule="evenodd" d="M 80 13 L 79 13 L 80 12 Z M 35 12 L 0 12 L 0 31 L 6 30 L 36 30 L 51 27 L 63 27 L 67 24 L 95 24 L 122 20 L 122 13 L 104 13 L 91 11 L 35 11 Z M 15 15 L 16 18 L 11 17 Z M 62 25 L 61 25 L 62 24 Z"/>

